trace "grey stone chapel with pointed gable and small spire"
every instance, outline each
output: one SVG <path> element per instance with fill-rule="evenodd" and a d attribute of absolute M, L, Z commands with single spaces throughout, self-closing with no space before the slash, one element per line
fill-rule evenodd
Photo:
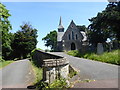
<path fill-rule="evenodd" d="M 62 21 L 60 17 L 58 32 L 57 32 L 57 50 L 70 51 L 79 50 L 83 51 L 87 46 L 86 33 L 80 31 L 74 21 L 72 20 L 67 30 L 64 32 Z"/>

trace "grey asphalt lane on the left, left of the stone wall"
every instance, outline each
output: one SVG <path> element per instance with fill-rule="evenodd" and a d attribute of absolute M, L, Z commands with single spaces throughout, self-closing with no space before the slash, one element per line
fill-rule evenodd
<path fill-rule="evenodd" d="M 0 70 L 0 77 L 2 77 L 0 80 L 2 88 L 27 88 L 34 80 L 33 70 L 27 59 L 16 61 L 4 67 Z"/>

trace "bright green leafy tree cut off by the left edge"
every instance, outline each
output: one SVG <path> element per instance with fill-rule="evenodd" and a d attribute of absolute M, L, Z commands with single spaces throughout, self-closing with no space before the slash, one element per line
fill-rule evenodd
<path fill-rule="evenodd" d="M 8 59 L 11 49 L 11 40 L 9 35 L 9 30 L 12 29 L 10 21 L 8 20 L 9 10 L 0 3 L 0 33 L 2 32 L 2 58 Z M 1 35 L 0 35 L 1 36 Z"/>

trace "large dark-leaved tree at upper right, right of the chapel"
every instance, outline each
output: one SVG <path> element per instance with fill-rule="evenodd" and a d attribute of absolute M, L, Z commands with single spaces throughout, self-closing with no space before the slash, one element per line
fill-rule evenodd
<path fill-rule="evenodd" d="M 104 43 L 107 38 L 120 41 L 120 2 L 109 3 L 105 10 L 89 19 L 89 40 L 93 44 Z"/>

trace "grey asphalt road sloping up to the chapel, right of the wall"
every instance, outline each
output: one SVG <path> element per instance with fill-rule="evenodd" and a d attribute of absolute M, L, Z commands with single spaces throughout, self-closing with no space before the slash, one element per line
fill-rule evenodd
<path fill-rule="evenodd" d="M 101 81 L 101 84 L 104 87 L 105 87 L 105 84 L 106 84 L 106 87 L 111 85 L 110 88 L 112 86 L 114 88 L 118 87 L 118 67 L 119 66 L 102 63 L 98 61 L 93 61 L 93 60 L 87 60 L 87 59 L 78 58 L 78 57 L 73 57 L 63 52 L 52 52 L 52 54 L 66 57 L 69 60 L 70 65 L 72 65 L 74 68 L 80 71 L 79 74 L 80 74 L 81 80 L 85 80 L 85 79 L 96 80 L 97 82 Z M 108 83 L 110 81 L 111 82 L 113 81 L 114 83 Z M 86 88 L 86 86 L 84 88 Z"/>

